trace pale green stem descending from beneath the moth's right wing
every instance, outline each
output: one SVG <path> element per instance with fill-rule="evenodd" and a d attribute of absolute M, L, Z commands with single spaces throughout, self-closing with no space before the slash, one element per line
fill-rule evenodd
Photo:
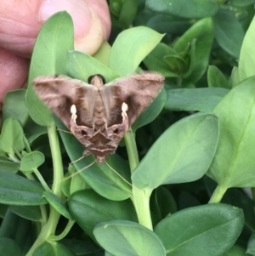
<path fill-rule="evenodd" d="M 127 155 L 132 174 L 134 169 L 139 165 L 139 156 L 134 139 L 134 134 L 131 129 L 127 132 L 124 139 L 127 147 Z M 150 194 L 151 191 L 139 190 L 133 185 L 132 200 L 139 219 L 139 224 L 144 225 L 146 228 L 152 230 L 152 223 L 150 217 Z"/>

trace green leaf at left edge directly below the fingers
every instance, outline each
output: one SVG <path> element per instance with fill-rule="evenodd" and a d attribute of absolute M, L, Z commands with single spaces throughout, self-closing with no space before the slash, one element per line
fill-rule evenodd
<path fill-rule="evenodd" d="M 25 125 L 29 115 L 26 109 L 25 89 L 9 91 L 3 100 L 3 122 L 9 117 L 17 119 L 22 126 Z"/>

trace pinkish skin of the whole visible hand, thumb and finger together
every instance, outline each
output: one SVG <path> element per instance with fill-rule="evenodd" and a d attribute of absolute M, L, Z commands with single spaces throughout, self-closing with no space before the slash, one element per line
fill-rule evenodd
<path fill-rule="evenodd" d="M 43 23 L 64 9 L 74 21 L 75 48 L 94 54 L 111 32 L 105 0 L 0 1 L 0 108 L 8 90 L 26 84 L 32 48 Z"/>

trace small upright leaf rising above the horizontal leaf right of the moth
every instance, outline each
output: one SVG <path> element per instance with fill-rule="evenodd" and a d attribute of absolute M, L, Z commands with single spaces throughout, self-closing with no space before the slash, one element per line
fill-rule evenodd
<path fill-rule="evenodd" d="M 226 77 L 215 65 L 208 67 L 207 82 L 209 88 L 230 88 Z"/>

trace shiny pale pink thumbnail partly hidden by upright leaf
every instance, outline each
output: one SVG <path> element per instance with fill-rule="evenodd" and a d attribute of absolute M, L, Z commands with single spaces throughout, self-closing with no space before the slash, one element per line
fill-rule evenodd
<path fill-rule="evenodd" d="M 83 0 L 43 0 L 39 20 L 44 23 L 51 15 L 64 10 L 71 14 L 75 37 L 87 35 L 91 26 L 91 12 L 87 3 Z"/>

